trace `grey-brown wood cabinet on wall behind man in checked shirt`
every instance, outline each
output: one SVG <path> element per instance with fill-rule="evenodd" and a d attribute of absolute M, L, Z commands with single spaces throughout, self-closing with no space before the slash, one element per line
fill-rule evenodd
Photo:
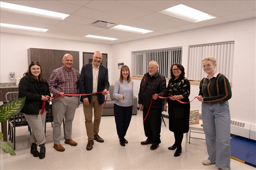
<path fill-rule="evenodd" d="M 66 50 L 51 50 L 51 49 L 27 49 L 28 66 L 31 61 L 38 61 L 42 68 L 42 74 L 49 81 L 51 73 L 56 68 L 61 67 L 62 58 L 64 54 L 71 54 L 73 56 L 73 68 L 79 72 L 79 51 L 66 51 Z"/>

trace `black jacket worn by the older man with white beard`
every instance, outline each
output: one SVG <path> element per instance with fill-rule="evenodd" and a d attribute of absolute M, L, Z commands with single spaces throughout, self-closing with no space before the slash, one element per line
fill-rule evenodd
<path fill-rule="evenodd" d="M 167 95 L 165 76 L 158 71 L 155 76 L 151 77 L 149 73 L 143 76 L 138 93 L 138 103 L 149 108 L 152 95 L 155 93 L 162 97 Z M 151 108 L 162 108 L 162 99 L 152 100 Z"/>

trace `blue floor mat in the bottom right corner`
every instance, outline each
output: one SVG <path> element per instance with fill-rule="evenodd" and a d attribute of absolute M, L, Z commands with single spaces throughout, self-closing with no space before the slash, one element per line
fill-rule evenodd
<path fill-rule="evenodd" d="M 231 158 L 256 167 L 256 141 L 236 136 L 230 139 Z"/>

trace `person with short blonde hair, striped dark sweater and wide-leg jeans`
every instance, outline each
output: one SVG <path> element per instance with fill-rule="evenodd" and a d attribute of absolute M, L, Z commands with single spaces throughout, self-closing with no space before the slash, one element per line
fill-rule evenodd
<path fill-rule="evenodd" d="M 203 130 L 209 158 L 204 165 L 216 163 L 219 170 L 230 170 L 230 111 L 231 87 L 223 74 L 215 71 L 216 59 L 202 59 L 207 74 L 200 82 L 198 100 L 202 102 Z"/>

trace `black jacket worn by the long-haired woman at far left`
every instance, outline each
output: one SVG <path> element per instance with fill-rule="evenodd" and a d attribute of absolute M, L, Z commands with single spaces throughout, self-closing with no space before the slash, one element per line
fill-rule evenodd
<path fill-rule="evenodd" d="M 42 109 L 42 95 L 50 96 L 49 85 L 46 82 L 36 82 L 30 78 L 27 73 L 21 78 L 18 84 L 18 97 L 26 96 L 26 102 L 21 110 L 22 113 L 38 115 L 39 109 Z M 48 102 L 46 101 L 46 110 L 48 110 Z"/>

